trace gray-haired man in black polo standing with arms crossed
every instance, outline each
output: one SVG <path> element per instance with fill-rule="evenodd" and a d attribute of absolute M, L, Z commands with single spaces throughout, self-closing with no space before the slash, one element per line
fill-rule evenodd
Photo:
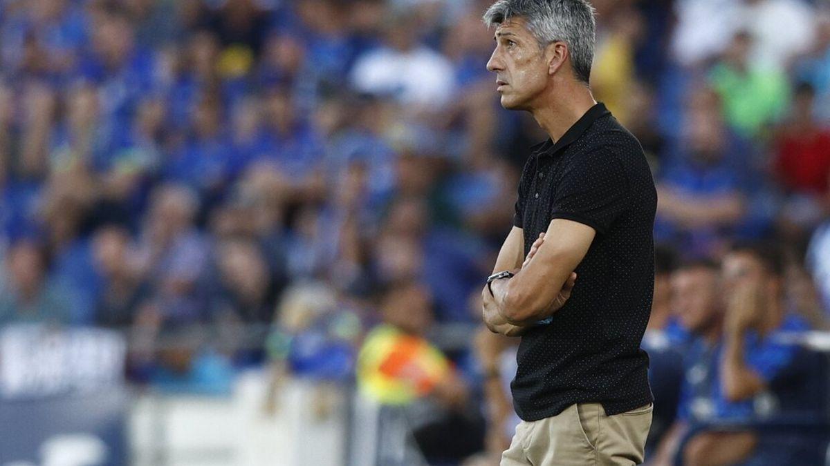
<path fill-rule="evenodd" d="M 502 106 L 549 134 L 481 291 L 487 328 L 521 336 L 510 389 L 522 422 L 501 464 L 640 464 L 653 400 L 640 349 L 654 287 L 651 171 L 593 99 L 590 3 L 499 0 L 484 21 Z"/>

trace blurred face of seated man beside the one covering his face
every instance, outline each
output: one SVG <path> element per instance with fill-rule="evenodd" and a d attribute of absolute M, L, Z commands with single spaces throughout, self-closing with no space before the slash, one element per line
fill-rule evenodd
<path fill-rule="evenodd" d="M 681 269 L 671 277 L 671 306 L 683 327 L 701 332 L 718 312 L 715 270 Z"/>

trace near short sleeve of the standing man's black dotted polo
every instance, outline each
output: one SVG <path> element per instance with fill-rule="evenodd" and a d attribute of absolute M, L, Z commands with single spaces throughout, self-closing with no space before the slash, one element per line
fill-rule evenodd
<path fill-rule="evenodd" d="M 631 202 L 628 179 L 608 148 L 579 155 L 566 167 L 551 206 L 551 218 L 579 221 L 605 233 Z"/>

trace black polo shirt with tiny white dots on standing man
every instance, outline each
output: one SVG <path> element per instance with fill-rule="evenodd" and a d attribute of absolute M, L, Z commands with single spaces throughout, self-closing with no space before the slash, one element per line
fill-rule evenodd
<path fill-rule="evenodd" d="M 515 204 L 525 255 L 554 218 L 597 235 L 568 302 L 521 337 L 510 384 L 515 410 L 530 421 L 574 403 L 602 403 L 607 415 L 647 405 L 652 391 L 640 342 L 652 309 L 657 191 L 642 147 L 596 104 L 559 141 L 534 149 Z"/>

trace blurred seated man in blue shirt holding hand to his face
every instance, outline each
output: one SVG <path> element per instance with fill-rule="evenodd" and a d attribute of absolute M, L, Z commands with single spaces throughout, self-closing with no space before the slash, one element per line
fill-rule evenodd
<path fill-rule="evenodd" d="M 713 301 L 709 307 L 716 309 L 712 291 L 716 289 L 717 275 L 712 268 L 706 273 L 709 281 L 698 286 L 696 298 L 690 298 L 702 300 L 700 296 L 709 293 Z M 725 306 L 722 318 L 713 310 L 708 316 L 701 312 L 709 319 L 708 324 L 696 322 L 694 312 L 687 320 L 697 337 L 686 352 L 679 421 L 661 446 L 660 460 L 671 458 L 671 450 L 676 446 L 672 443 L 682 436 L 687 423 L 747 420 L 756 414 L 763 415 L 765 405 L 769 410 L 769 403 L 759 399 L 769 397 L 774 377 L 793 362 L 796 354 L 796 348 L 779 342 L 776 334 L 809 328 L 804 318 L 786 308 L 784 258 L 776 254 L 774 247 L 733 246 L 725 255 L 722 278 L 723 286 L 730 290 L 720 304 Z M 682 281 L 680 277 L 678 280 Z M 679 284 L 678 288 L 681 296 L 683 287 Z M 689 313 L 688 309 L 683 310 Z M 756 413 L 759 410 L 762 412 Z M 733 464 L 754 456 L 771 459 L 782 454 L 769 445 L 774 442 L 765 441 L 752 431 L 706 431 L 690 439 L 682 454 L 688 464 Z"/>

